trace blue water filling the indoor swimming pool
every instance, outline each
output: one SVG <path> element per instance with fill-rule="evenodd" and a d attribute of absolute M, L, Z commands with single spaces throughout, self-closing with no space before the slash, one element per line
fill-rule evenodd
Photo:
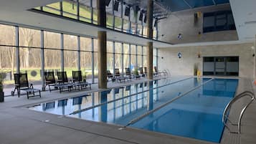
<path fill-rule="evenodd" d="M 222 112 L 234 97 L 237 83 L 234 79 L 194 77 L 156 80 L 55 100 L 29 109 L 57 115 L 82 110 L 70 116 L 219 143 L 224 129 Z M 176 97 L 179 98 L 174 100 Z M 169 105 L 141 117 L 166 102 L 170 102 Z M 85 108 L 88 110 L 83 110 Z M 141 118 L 130 123 L 138 117 Z"/>

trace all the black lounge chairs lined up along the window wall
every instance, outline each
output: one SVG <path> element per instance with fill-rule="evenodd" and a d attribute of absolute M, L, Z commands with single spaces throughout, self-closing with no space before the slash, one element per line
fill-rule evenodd
<path fill-rule="evenodd" d="M 154 67 L 155 72 L 153 75 L 166 75 L 167 72 L 158 72 L 157 67 Z M 125 82 L 125 80 L 139 79 L 140 77 L 145 77 L 147 75 L 147 69 L 144 67 L 145 72 L 143 71 L 143 67 L 139 68 L 140 73 L 135 72 L 132 74 L 130 68 L 125 68 L 125 75 L 120 75 L 119 69 L 115 69 L 115 75 L 111 74 L 108 70 L 108 79 L 113 82 Z M 72 71 L 72 79 L 68 80 L 67 72 L 57 72 L 57 80 L 55 80 L 54 72 L 44 72 L 45 79 L 45 87 L 49 87 L 49 92 L 52 91 L 51 87 L 54 87 L 53 90 L 60 90 L 60 92 L 67 90 L 82 90 L 84 88 L 89 87 L 91 89 L 91 84 L 86 82 L 86 80 L 82 80 L 82 72 L 81 71 Z M 41 97 L 41 91 L 35 89 L 32 84 L 29 85 L 29 81 L 27 78 L 27 73 L 19 73 L 14 74 L 14 91 L 11 92 L 11 95 L 14 95 L 14 92 L 17 90 L 18 97 L 20 97 L 20 91 L 25 91 L 27 93 L 27 98 L 29 97 Z"/>

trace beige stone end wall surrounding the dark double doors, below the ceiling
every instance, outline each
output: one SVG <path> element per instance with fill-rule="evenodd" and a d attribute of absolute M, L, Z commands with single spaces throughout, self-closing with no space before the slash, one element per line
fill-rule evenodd
<path fill-rule="evenodd" d="M 210 56 L 239 56 L 240 57 L 240 77 L 253 77 L 254 57 L 252 57 L 253 43 L 249 44 L 229 44 L 214 46 L 197 46 L 197 47 L 171 47 L 158 50 L 159 69 L 169 69 L 171 75 L 194 75 L 194 64 L 199 65 L 202 71 L 202 57 Z M 177 54 L 181 52 L 181 59 Z M 202 57 L 198 58 L 198 53 Z"/>

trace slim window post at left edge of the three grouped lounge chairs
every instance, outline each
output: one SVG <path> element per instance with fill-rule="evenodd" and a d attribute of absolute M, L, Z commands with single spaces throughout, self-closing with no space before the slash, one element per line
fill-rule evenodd
<path fill-rule="evenodd" d="M 42 90 L 45 90 L 44 87 L 44 31 L 41 30 L 41 84 Z"/>

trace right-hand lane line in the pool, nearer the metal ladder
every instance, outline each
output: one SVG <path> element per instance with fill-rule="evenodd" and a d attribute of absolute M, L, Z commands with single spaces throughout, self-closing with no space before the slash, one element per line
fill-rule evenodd
<path fill-rule="evenodd" d="M 189 91 L 187 91 L 187 92 L 185 92 L 185 93 L 179 95 L 178 97 L 175 97 L 174 99 L 170 100 L 169 102 L 166 102 L 165 104 L 163 104 L 163 105 L 161 105 L 161 106 L 159 106 L 159 107 L 156 107 L 156 108 L 153 109 L 153 110 L 150 110 L 150 111 L 144 113 L 144 114 L 141 115 L 140 117 L 136 117 L 135 119 L 131 120 L 127 125 L 125 125 L 125 126 L 119 128 L 118 130 L 123 130 L 124 128 L 128 127 L 129 125 L 132 125 L 133 123 L 138 122 L 138 120 L 143 119 L 143 117 L 146 117 L 146 116 L 150 115 L 151 113 L 156 112 L 157 110 L 161 109 L 162 107 L 165 107 L 166 105 L 169 105 L 171 102 L 174 102 L 174 100 L 178 100 L 179 98 L 183 97 L 184 95 L 188 94 L 189 92 L 192 92 L 192 91 L 198 89 L 199 87 L 202 87 L 202 85 L 205 85 L 205 84 L 207 84 L 208 82 L 211 82 L 212 80 L 214 80 L 214 78 L 212 78 L 211 80 L 207 80 L 207 82 L 204 82 L 204 83 L 202 83 L 201 85 L 198 85 L 198 86 L 194 87 L 193 89 L 191 89 L 191 90 L 189 90 Z"/>

